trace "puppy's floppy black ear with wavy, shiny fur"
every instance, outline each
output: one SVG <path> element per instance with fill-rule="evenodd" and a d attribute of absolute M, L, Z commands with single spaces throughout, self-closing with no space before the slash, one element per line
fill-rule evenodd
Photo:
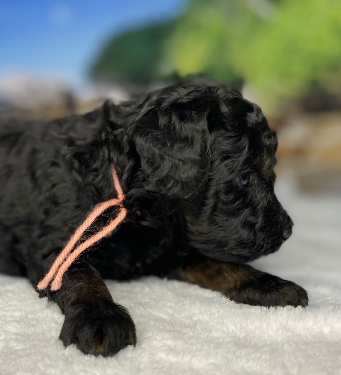
<path fill-rule="evenodd" d="M 141 159 L 144 189 L 190 198 L 208 179 L 207 111 L 186 102 L 154 103 L 136 120 L 131 136 Z"/>

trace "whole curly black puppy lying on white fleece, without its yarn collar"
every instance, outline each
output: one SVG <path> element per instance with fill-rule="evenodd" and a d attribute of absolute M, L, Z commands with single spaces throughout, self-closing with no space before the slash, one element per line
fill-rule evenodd
<path fill-rule="evenodd" d="M 0 147 L 0 271 L 34 286 L 87 213 L 115 196 L 111 163 L 126 194 L 116 233 L 69 268 L 60 290 L 40 293 L 65 314 L 65 346 L 110 356 L 135 344 L 103 278 L 158 275 L 238 303 L 307 305 L 298 285 L 244 264 L 278 250 L 292 222 L 273 192 L 275 132 L 239 93 L 182 84 L 51 123 L 3 117 Z"/>

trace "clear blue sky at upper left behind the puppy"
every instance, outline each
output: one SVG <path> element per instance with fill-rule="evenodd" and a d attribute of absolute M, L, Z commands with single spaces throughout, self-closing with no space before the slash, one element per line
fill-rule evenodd
<path fill-rule="evenodd" d="M 8 72 L 78 86 L 114 33 L 174 17 L 184 0 L 0 0 L 0 80 Z"/>

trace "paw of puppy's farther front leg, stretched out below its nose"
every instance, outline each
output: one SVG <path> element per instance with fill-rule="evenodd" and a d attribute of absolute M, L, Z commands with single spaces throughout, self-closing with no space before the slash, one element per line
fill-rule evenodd
<path fill-rule="evenodd" d="M 228 297 L 237 303 L 255 306 L 302 306 L 308 305 L 308 295 L 299 285 L 262 273 L 238 289 L 231 291 Z"/>

